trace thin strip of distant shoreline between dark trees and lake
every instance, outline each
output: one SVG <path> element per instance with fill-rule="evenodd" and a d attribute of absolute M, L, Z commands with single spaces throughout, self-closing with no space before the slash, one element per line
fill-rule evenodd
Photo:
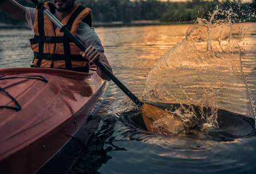
<path fill-rule="evenodd" d="M 158 20 L 138 20 L 131 23 L 123 22 L 93 22 L 93 27 L 141 27 L 141 26 L 163 26 L 163 25 L 176 25 L 176 24 L 191 24 L 192 22 L 159 22 Z M 24 28 L 26 29 L 25 24 L 5 24 L 0 23 L 0 28 L 11 29 L 11 28 Z"/>

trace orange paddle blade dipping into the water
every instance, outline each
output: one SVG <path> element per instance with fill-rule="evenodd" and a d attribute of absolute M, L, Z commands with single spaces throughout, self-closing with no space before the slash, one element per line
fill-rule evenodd
<path fill-rule="evenodd" d="M 185 131 L 182 122 L 163 109 L 144 104 L 141 114 L 148 131 L 165 135 L 177 135 Z"/>

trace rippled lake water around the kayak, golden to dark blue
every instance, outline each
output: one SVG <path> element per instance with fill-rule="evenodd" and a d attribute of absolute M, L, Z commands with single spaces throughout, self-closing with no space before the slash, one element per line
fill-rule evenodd
<path fill-rule="evenodd" d="M 189 27 L 96 28 L 96 32 L 105 46 L 113 73 L 142 98 L 148 73 L 160 57 L 185 39 Z M 239 28 L 237 33 L 234 31 L 234 37 L 242 32 L 238 63 L 242 66 L 250 92 L 250 109 L 253 109 L 256 99 L 256 23 L 234 24 L 233 27 Z M 32 32 L 27 29 L 0 29 L 0 68 L 28 67 L 32 62 L 28 41 L 31 37 Z M 230 88 L 236 87 L 234 84 L 230 83 Z M 241 98 L 241 108 L 229 105 L 229 111 L 254 118 L 255 112 L 249 116 L 243 110 L 247 100 L 244 101 Z M 254 131 L 242 137 L 230 137 L 225 132 L 204 138 L 168 137 L 142 129 L 134 121 L 138 114 L 128 97 L 109 82 L 104 100 L 92 117 L 92 120 L 101 118 L 98 127 L 69 173 L 256 173 Z M 238 125 L 234 125 L 236 129 Z"/>

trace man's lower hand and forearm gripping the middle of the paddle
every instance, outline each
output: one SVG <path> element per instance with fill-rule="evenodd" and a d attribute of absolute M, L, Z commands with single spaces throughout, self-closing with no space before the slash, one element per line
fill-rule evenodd
<path fill-rule="evenodd" d="M 86 58 L 88 60 L 88 65 L 90 65 L 90 63 L 93 63 L 94 61 L 96 61 L 97 59 L 100 59 L 101 62 L 106 66 L 106 68 L 109 69 L 109 71 L 112 73 L 112 68 L 109 65 L 109 61 L 106 58 L 105 54 L 103 52 L 98 52 L 94 46 L 89 46 L 85 52 L 80 52 L 81 56 Z M 108 77 L 108 75 L 106 75 L 104 73 L 104 71 L 102 71 L 97 65 L 97 73 L 98 75 L 100 75 L 100 77 L 102 79 L 105 80 L 110 80 L 110 78 Z"/>

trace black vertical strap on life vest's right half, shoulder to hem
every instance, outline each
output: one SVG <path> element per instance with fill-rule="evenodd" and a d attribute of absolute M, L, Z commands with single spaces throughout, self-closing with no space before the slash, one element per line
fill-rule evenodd
<path fill-rule="evenodd" d="M 75 19 L 77 18 L 77 16 L 85 9 L 84 6 L 79 6 L 77 7 L 76 11 L 73 12 L 73 14 L 71 15 L 71 17 L 68 20 L 68 23 L 66 25 L 66 27 L 69 29 L 69 31 L 71 31 L 72 25 L 75 21 Z M 64 37 L 68 36 L 64 33 Z M 72 64 L 71 64 L 71 50 L 70 50 L 70 45 L 69 45 L 69 40 L 65 40 L 63 43 L 64 46 L 64 54 L 65 54 L 65 64 L 66 64 L 66 68 L 72 68 Z"/>

